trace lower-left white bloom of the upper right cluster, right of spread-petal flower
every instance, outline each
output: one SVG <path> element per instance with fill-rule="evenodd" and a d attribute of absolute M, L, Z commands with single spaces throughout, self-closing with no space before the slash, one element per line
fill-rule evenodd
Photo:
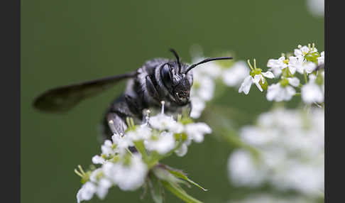
<path fill-rule="evenodd" d="M 266 98 L 268 101 L 289 101 L 296 94 L 291 86 L 282 87 L 280 83 L 268 86 Z"/>

